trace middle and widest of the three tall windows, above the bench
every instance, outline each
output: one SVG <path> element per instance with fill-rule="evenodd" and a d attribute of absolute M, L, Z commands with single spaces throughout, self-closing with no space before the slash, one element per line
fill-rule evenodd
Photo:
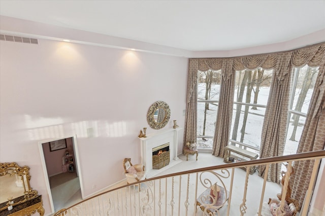
<path fill-rule="evenodd" d="M 272 72 L 263 68 L 236 71 L 231 144 L 259 153 Z"/>

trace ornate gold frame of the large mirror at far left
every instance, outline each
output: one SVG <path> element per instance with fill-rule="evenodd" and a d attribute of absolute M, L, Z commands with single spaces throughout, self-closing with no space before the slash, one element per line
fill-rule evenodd
<path fill-rule="evenodd" d="M 20 197 L 14 197 L 14 203 L 12 206 L 18 205 L 20 203 L 26 202 L 28 200 L 34 199 L 38 196 L 38 192 L 36 190 L 32 190 L 29 184 L 30 175 L 29 175 L 29 167 L 28 166 L 19 166 L 16 162 L 11 163 L 0 163 L 0 178 L 3 176 L 18 176 L 24 188 L 24 194 L 21 194 Z M 7 203 L 5 207 L 2 207 L 0 211 L 6 209 L 9 206 Z"/>

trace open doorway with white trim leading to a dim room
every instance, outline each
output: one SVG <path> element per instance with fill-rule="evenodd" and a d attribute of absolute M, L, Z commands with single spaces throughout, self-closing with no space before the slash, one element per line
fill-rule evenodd
<path fill-rule="evenodd" d="M 83 199 L 76 136 L 39 142 L 52 213 Z"/>

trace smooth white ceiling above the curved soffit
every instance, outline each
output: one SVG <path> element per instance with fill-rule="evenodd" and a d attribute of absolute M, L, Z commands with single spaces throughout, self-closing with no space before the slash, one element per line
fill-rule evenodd
<path fill-rule="evenodd" d="M 325 29 L 325 0 L 0 0 L 0 15 L 188 51 L 225 51 Z"/>

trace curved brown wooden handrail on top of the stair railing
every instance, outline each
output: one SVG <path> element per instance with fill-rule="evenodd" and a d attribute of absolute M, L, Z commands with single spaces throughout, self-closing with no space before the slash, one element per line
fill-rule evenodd
<path fill-rule="evenodd" d="M 228 168 L 236 168 L 236 167 L 245 167 L 245 166 L 251 166 L 251 165 L 263 165 L 263 164 L 269 164 L 269 163 L 280 163 L 280 162 L 286 162 L 286 161 L 299 161 L 299 160 L 306 160 L 306 159 L 318 159 L 318 158 L 325 158 L 325 150 L 319 150 L 319 151 L 313 151 L 313 152 L 304 152 L 304 153 L 299 153 L 299 154 L 293 154 L 293 155 L 285 155 L 285 156 L 276 156 L 276 157 L 269 157 L 269 158 L 262 158 L 262 159 L 255 159 L 255 160 L 247 160 L 247 161 L 242 161 L 242 162 L 235 162 L 235 163 L 225 163 L 222 165 L 216 165 L 216 166 L 209 166 L 209 167 L 204 167 L 204 168 L 198 168 L 198 169 L 191 169 L 191 170 L 186 170 L 186 171 L 181 171 L 181 172 L 175 172 L 174 174 L 168 174 L 164 176 L 158 176 L 158 177 L 153 177 L 150 179 L 145 179 L 136 183 L 131 183 L 127 184 L 124 186 L 120 186 L 111 190 L 108 190 L 106 192 L 100 193 L 98 195 L 94 195 L 92 197 L 86 198 L 69 208 L 72 208 L 76 205 L 79 205 L 82 202 L 85 202 L 87 200 L 93 199 L 94 197 L 101 196 L 103 194 L 119 190 L 124 187 L 132 186 L 132 185 L 138 185 L 140 183 L 148 182 L 148 181 L 153 181 L 157 179 L 165 179 L 169 177 L 174 177 L 174 176 L 180 176 L 180 175 L 185 175 L 185 174 L 191 174 L 194 172 L 203 172 L 203 171 L 208 171 L 208 170 L 217 170 L 217 169 L 228 169 Z M 69 209 L 68 208 L 68 209 Z M 61 209 L 60 211 L 56 212 L 54 215 L 58 215 L 61 212 L 66 211 L 67 209 Z"/>

